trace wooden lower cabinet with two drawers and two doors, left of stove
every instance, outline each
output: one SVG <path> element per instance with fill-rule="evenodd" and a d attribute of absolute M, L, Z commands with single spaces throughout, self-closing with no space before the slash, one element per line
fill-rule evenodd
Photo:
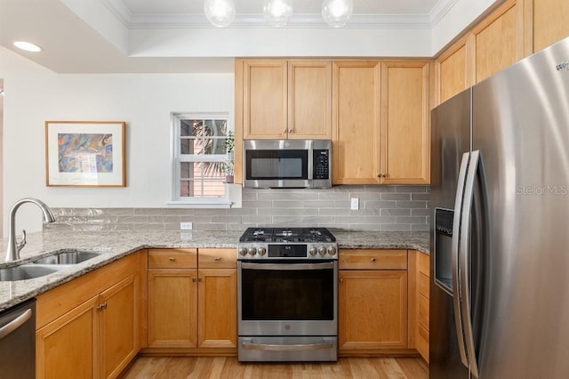
<path fill-rule="evenodd" d="M 235 249 L 154 249 L 148 262 L 148 347 L 235 352 Z"/>

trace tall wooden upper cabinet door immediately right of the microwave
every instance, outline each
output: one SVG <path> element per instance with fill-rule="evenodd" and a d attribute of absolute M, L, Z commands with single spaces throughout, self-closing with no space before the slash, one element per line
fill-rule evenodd
<path fill-rule="evenodd" d="M 333 184 L 377 184 L 380 173 L 381 64 L 333 61 Z"/>

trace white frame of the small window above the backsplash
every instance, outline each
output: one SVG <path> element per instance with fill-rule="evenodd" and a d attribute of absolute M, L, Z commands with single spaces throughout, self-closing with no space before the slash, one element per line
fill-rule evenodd
<path fill-rule="evenodd" d="M 180 164 L 183 162 L 225 162 L 228 160 L 227 154 L 211 154 L 211 155 L 191 155 L 181 154 L 180 142 L 181 133 L 180 125 L 182 120 L 225 120 L 227 123 L 227 130 L 233 131 L 233 125 L 228 112 L 207 112 L 207 113 L 193 113 L 193 112 L 180 112 L 172 113 L 172 126 L 171 126 L 171 157 L 172 157 L 172 181 L 171 181 L 171 195 L 169 206 L 182 206 L 182 207 L 203 207 L 203 208 L 229 208 L 233 202 L 230 201 L 230 186 L 224 183 L 225 196 L 214 197 L 181 197 L 180 196 Z M 203 181 L 201 181 L 203 183 Z"/>

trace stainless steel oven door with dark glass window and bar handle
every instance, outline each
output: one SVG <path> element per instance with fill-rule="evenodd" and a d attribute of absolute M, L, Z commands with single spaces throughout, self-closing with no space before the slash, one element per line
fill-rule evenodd
<path fill-rule="evenodd" d="M 338 335 L 338 262 L 238 262 L 239 335 Z"/>

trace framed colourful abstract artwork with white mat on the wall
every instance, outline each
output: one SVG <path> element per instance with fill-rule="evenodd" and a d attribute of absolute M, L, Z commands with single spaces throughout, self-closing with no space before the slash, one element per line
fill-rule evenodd
<path fill-rule="evenodd" d="M 124 121 L 45 121 L 48 187 L 125 187 Z"/>

